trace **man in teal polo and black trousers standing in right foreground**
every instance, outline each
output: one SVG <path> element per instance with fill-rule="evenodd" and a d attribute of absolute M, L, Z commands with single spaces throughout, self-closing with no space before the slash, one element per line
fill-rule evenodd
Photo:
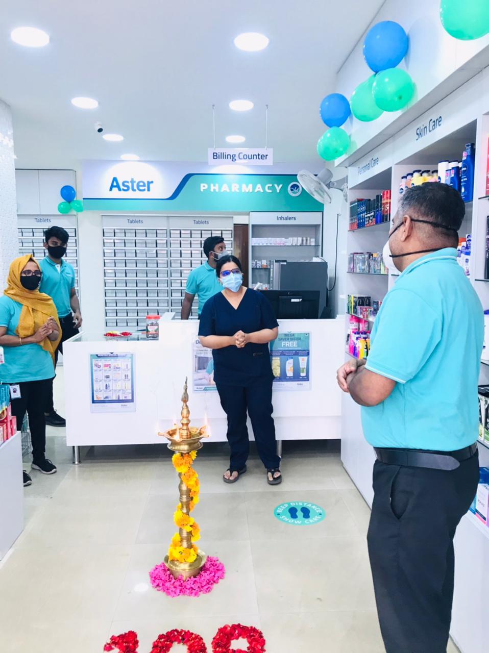
<path fill-rule="evenodd" d="M 453 538 L 479 482 L 484 319 L 457 263 L 464 214 L 460 194 L 443 183 L 403 195 L 386 254 L 402 274 L 366 363 L 338 370 L 377 456 L 367 541 L 387 653 L 446 653 Z"/>

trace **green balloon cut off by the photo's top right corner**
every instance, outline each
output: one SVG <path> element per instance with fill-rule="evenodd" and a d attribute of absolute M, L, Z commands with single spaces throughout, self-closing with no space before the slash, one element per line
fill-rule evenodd
<path fill-rule="evenodd" d="M 454 39 L 480 39 L 489 33 L 487 0 L 441 0 L 440 18 Z"/>

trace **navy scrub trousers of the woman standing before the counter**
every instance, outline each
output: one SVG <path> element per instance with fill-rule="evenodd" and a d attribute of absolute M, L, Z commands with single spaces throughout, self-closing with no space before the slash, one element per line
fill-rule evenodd
<path fill-rule="evenodd" d="M 242 470 L 250 453 L 246 411 L 250 416 L 261 462 L 268 470 L 280 466 L 272 417 L 272 383 L 273 381 L 268 380 L 260 381 L 248 387 L 216 383 L 221 406 L 228 416 L 227 437 L 231 446 L 231 471 Z"/>

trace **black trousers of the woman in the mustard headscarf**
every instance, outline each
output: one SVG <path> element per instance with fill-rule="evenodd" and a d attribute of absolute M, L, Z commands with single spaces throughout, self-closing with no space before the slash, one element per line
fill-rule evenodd
<path fill-rule="evenodd" d="M 46 395 L 52 387 L 52 379 L 43 381 L 24 381 L 20 385 L 20 399 L 12 399 L 12 415 L 17 418 L 17 428 L 22 428 L 25 412 L 29 417 L 31 430 L 32 457 L 34 462 L 42 460 L 46 453 L 46 420 L 44 406 Z"/>

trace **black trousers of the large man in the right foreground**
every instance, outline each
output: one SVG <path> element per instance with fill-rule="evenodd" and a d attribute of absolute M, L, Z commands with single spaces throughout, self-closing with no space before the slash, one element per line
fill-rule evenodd
<path fill-rule="evenodd" d="M 446 653 L 453 539 L 478 483 L 477 454 L 453 471 L 375 462 L 367 541 L 386 653 Z"/>

